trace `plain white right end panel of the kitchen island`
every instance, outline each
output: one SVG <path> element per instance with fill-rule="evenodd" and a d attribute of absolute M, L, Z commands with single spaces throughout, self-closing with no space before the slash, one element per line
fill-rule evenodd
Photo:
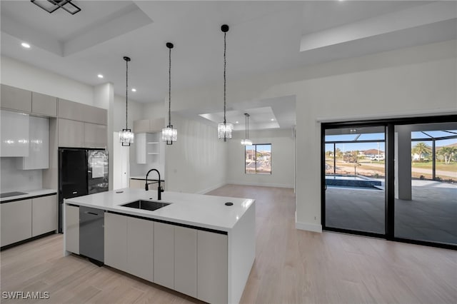
<path fill-rule="evenodd" d="M 256 258 L 256 202 L 229 232 L 229 303 L 239 303 Z"/>

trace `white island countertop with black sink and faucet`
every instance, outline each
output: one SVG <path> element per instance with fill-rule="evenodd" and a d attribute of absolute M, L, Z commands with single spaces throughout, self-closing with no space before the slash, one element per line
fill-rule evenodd
<path fill-rule="evenodd" d="M 116 193 L 118 191 L 123 192 Z M 255 202 L 255 200 L 248 198 L 228 198 L 166 191 L 162 193 L 160 202 L 171 204 L 156 211 L 119 206 L 139 199 L 156 201 L 156 198 L 157 191 L 154 190 L 124 188 L 89 196 L 66 198 L 64 202 L 222 231 L 230 231 Z M 232 202 L 233 206 L 226 206 L 226 202 Z"/>

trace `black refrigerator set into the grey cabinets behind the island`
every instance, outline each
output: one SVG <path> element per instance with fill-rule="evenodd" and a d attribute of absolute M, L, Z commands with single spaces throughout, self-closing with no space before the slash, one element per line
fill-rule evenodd
<path fill-rule="evenodd" d="M 108 151 L 59 148 L 59 232 L 63 232 L 64 198 L 108 191 Z"/>

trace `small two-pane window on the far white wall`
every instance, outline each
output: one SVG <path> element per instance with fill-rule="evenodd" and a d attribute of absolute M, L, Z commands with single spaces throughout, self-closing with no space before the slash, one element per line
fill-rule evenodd
<path fill-rule="evenodd" d="M 271 174 L 271 143 L 245 146 L 244 173 Z"/>

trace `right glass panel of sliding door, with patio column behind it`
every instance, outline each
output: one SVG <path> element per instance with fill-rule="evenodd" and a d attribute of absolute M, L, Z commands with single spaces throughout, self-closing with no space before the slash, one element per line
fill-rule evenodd
<path fill-rule="evenodd" d="M 395 133 L 395 237 L 457 244 L 457 123 Z"/>

